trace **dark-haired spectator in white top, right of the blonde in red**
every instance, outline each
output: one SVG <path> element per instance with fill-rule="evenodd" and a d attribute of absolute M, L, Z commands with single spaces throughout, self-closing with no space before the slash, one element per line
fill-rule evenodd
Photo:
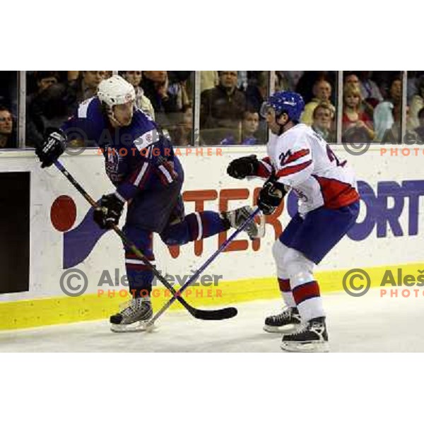
<path fill-rule="evenodd" d="M 374 129 L 377 141 L 382 141 L 384 133 L 387 130 L 392 130 L 396 119 L 400 119 L 401 95 L 402 81 L 399 77 L 395 77 L 390 84 L 389 98 L 379 103 L 374 110 Z"/>

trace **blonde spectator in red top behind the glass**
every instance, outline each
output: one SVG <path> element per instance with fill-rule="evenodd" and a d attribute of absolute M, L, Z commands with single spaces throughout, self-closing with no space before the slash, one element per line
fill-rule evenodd
<path fill-rule="evenodd" d="M 361 100 L 359 87 L 346 84 L 343 89 L 343 142 L 372 141 L 375 137 L 371 118 L 360 108 Z"/>

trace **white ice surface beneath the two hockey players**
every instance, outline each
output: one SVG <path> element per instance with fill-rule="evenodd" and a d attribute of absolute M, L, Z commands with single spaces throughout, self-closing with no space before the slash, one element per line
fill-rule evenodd
<path fill-rule="evenodd" d="M 423 293 L 418 298 L 379 295 L 373 289 L 361 298 L 324 296 L 332 352 L 424 352 Z M 114 334 L 106 320 L 2 331 L 0 352 L 281 352 L 281 336 L 262 330 L 264 317 L 277 312 L 281 302 L 235 306 L 237 317 L 220 322 L 170 312 L 151 334 Z"/>

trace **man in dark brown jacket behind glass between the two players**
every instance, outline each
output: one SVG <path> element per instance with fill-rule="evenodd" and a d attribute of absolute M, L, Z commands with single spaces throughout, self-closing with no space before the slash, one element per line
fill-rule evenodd
<path fill-rule="evenodd" d="M 218 143 L 227 136 L 240 139 L 246 110 L 245 93 L 237 89 L 237 71 L 218 71 L 219 84 L 201 93 L 200 127 L 206 143 Z"/>

